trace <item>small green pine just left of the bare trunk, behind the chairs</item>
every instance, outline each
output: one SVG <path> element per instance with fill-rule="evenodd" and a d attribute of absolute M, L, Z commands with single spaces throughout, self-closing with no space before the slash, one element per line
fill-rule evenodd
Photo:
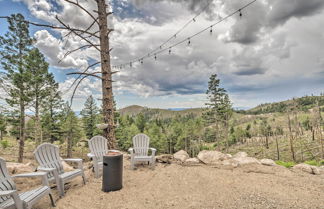
<path fill-rule="evenodd" d="M 92 95 L 90 95 L 84 103 L 81 111 L 83 128 L 88 139 L 91 139 L 96 133 L 96 124 L 98 123 L 98 107 Z"/>

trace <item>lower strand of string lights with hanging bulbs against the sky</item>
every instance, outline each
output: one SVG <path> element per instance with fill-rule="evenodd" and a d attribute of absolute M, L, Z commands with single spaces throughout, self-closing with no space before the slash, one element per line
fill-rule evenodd
<path fill-rule="evenodd" d="M 153 56 L 153 55 L 154 55 L 154 57 L 155 57 L 155 56 L 157 56 L 158 54 L 161 54 L 162 52 L 164 52 L 164 51 L 166 51 L 166 50 L 168 50 L 169 54 L 171 54 L 171 48 L 172 48 L 172 47 L 178 46 L 178 45 L 180 45 L 180 44 L 182 44 L 182 43 L 184 43 L 184 42 L 186 42 L 186 41 L 187 41 L 188 45 L 190 45 L 190 44 L 191 44 L 191 39 L 192 39 L 192 38 L 194 38 L 194 37 L 196 37 L 196 36 L 202 34 L 202 33 L 205 32 L 206 30 L 209 30 L 210 34 L 212 34 L 212 32 L 213 32 L 213 27 L 214 27 L 215 25 L 217 25 L 217 24 L 219 24 L 219 23 L 225 21 L 226 19 L 230 18 L 231 16 L 235 15 L 236 13 L 238 13 L 239 16 L 242 17 L 242 16 L 243 16 L 243 15 L 242 15 L 242 10 L 245 9 L 245 8 L 247 8 L 248 6 L 250 6 L 251 4 L 253 4 L 254 2 L 256 2 L 256 0 L 252 0 L 251 2 L 245 4 L 243 7 L 241 7 L 240 9 L 238 9 L 238 10 L 236 10 L 236 11 L 230 13 L 229 15 L 227 15 L 227 16 L 221 18 L 219 21 L 217 21 L 217 22 L 215 22 L 214 24 L 208 26 L 207 28 L 204 28 L 204 29 L 200 30 L 199 32 L 197 32 L 197 33 L 195 33 L 195 34 L 193 34 L 193 35 L 191 35 L 191 36 L 189 36 L 189 37 L 187 37 L 187 38 L 185 38 L 185 39 L 182 39 L 182 40 L 180 40 L 180 41 L 178 41 L 178 42 L 176 42 L 176 43 L 170 45 L 170 46 L 167 47 L 167 48 L 163 48 L 163 44 L 161 44 L 161 45 L 157 48 L 157 49 L 160 49 L 160 50 L 158 50 L 158 51 L 153 50 L 153 52 L 156 51 L 154 54 L 152 54 L 152 52 L 151 52 L 151 53 L 148 53 L 146 56 L 143 56 L 143 57 L 139 58 L 138 61 L 139 61 L 141 64 L 143 64 L 143 59 L 146 59 L 146 58 L 151 57 L 151 56 Z M 178 33 L 176 33 L 176 34 L 178 34 Z M 173 35 L 172 38 L 173 38 L 173 37 L 176 37 L 176 34 Z M 122 64 L 121 64 L 121 65 L 122 65 Z M 115 65 L 115 66 L 113 66 L 113 67 L 116 67 L 116 66 L 120 66 L 120 65 Z"/>

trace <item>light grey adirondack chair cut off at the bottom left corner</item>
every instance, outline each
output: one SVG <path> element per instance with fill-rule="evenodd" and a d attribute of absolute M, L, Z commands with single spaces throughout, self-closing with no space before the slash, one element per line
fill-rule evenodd
<path fill-rule="evenodd" d="M 42 177 L 43 186 L 27 192 L 18 193 L 13 178 Z M 6 161 L 0 158 L 0 208 L 1 209 L 31 209 L 45 195 L 49 195 L 52 206 L 55 207 L 51 189 L 48 185 L 46 172 L 24 173 L 10 176 L 6 167 Z"/>

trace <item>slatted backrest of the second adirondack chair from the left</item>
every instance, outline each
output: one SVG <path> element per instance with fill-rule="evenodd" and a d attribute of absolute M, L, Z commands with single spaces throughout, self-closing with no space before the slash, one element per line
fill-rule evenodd
<path fill-rule="evenodd" d="M 41 167 L 56 168 L 59 174 L 64 172 L 58 146 L 49 143 L 41 144 L 34 151 L 34 155 Z M 48 178 L 51 177 L 53 174 L 48 173 Z"/>

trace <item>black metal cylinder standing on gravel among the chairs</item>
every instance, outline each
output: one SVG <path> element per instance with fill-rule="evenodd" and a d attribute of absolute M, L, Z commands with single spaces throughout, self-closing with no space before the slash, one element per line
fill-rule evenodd
<path fill-rule="evenodd" d="M 123 187 L 123 154 L 103 156 L 102 191 L 110 192 Z"/>

